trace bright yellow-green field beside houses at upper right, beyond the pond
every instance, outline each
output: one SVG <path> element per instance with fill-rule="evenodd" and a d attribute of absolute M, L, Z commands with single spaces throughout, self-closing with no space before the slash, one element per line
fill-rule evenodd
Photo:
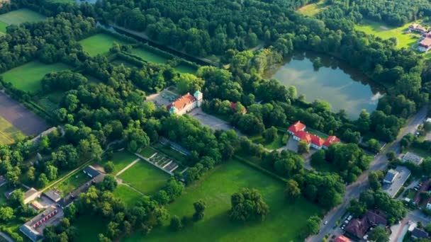
<path fill-rule="evenodd" d="M 384 23 L 364 20 L 359 25 L 356 25 L 355 28 L 366 34 L 375 35 L 384 40 L 395 37 L 398 40 L 396 47 L 403 48 L 412 47 L 420 38 L 420 35 L 417 33 L 404 33 L 410 24 L 411 23 L 407 23 L 401 27 L 394 28 L 387 26 Z"/>

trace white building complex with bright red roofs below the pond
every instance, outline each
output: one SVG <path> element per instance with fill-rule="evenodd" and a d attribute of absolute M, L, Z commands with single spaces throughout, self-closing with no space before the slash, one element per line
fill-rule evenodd
<path fill-rule="evenodd" d="M 328 139 L 324 140 L 318 137 L 315 134 L 310 134 L 305 131 L 306 125 L 301 123 L 300 121 L 294 123 L 287 129 L 289 134 L 292 134 L 293 139 L 296 141 L 304 141 L 308 144 L 308 146 L 314 149 L 328 149 L 331 144 L 339 143 L 340 139 L 331 135 Z"/>

